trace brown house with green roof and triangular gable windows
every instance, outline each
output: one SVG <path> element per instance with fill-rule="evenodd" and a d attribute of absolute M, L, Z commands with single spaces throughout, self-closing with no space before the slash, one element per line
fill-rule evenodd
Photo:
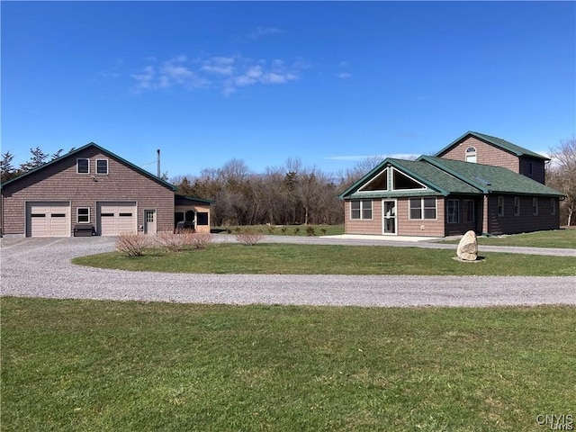
<path fill-rule="evenodd" d="M 446 237 L 560 227 L 546 157 L 467 132 L 435 157 L 387 158 L 339 195 L 347 234 Z M 490 163 L 486 163 L 490 162 Z"/>

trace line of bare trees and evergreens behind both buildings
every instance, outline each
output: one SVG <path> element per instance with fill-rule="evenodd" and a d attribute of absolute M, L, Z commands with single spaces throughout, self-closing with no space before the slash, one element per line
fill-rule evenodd
<path fill-rule="evenodd" d="M 72 148 L 70 151 L 72 151 Z M 14 155 L 6 152 L 0 162 L 2 183 L 42 166 L 62 155 L 31 148 L 31 157 L 18 167 Z M 553 162 L 546 166 L 546 184 L 562 192 L 562 225 L 576 225 L 576 137 L 565 139 L 551 150 Z M 220 168 L 202 169 L 199 175 L 176 175 L 170 183 L 177 193 L 212 200 L 211 219 L 215 226 L 341 224 L 344 203 L 338 193 L 368 173 L 382 161 L 366 157 L 356 166 L 336 175 L 315 166 L 304 166 L 300 158 L 289 158 L 283 166 L 267 167 L 254 173 L 242 159 L 233 158 Z M 167 180 L 167 174 L 162 175 Z"/>

